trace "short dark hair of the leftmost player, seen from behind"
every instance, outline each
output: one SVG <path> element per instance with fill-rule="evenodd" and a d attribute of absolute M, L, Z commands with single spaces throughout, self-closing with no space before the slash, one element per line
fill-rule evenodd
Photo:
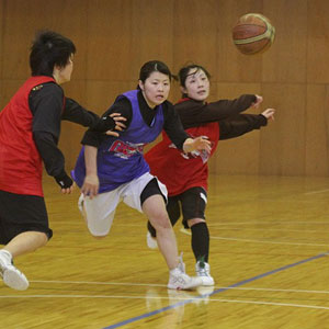
<path fill-rule="evenodd" d="M 72 54 L 76 46 L 69 38 L 53 31 L 37 32 L 30 54 L 32 76 L 52 77 L 54 67 L 65 67 Z"/>

